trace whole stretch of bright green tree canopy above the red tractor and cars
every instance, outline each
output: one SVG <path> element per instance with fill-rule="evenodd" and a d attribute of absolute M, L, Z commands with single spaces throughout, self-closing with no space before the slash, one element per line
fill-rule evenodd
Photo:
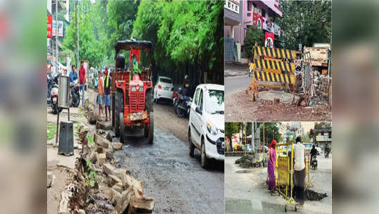
<path fill-rule="evenodd" d="M 181 83 L 224 83 L 222 1 L 84 1 L 79 3 L 79 58 L 113 63 L 117 40 L 153 42 L 155 68 Z M 83 5 L 82 5 L 83 4 Z M 75 11 L 63 51 L 75 52 Z M 72 52 L 70 52 L 72 51 Z M 75 62 L 75 59 L 74 59 Z"/>

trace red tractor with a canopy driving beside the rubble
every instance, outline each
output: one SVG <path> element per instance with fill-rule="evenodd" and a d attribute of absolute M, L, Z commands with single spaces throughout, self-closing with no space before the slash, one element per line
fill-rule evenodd
<path fill-rule="evenodd" d="M 125 68 L 122 53 L 127 51 L 129 63 Z M 143 130 L 148 143 L 153 144 L 153 44 L 148 41 L 118 41 L 115 44 L 115 61 L 111 85 L 115 134 L 123 143 L 124 130 Z"/>

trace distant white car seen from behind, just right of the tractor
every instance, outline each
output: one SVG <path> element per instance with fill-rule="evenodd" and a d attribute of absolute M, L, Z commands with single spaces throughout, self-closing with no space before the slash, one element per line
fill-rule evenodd
<path fill-rule="evenodd" d="M 172 94 L 174 94 L 174 85 L 169 77 L 158 77 L 157 84 L 154 87 L 154 101 L 167 100 L 172 103 Z"/>

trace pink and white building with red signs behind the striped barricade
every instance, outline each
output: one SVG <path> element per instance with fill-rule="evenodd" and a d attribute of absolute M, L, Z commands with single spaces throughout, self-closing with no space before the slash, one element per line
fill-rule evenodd
<path fill-rule="evenodd" d="M 283 15 L 283 11 L 279 7 L 279 0 L 240 1 L 239 3 L 242 9 L 242 22 L 239 25 L 225 25 L 225 37 L 233 37 L 237 46 L 243 46 L 246 28 L 250 25 L 257 25 L 265 32 L 273 32 L 275 37 L 280 37 L 281 27 L 274 23 L 276 18 Z"/>

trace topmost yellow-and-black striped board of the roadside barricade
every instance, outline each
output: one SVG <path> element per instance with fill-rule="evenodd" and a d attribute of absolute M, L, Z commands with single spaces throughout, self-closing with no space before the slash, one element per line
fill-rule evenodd
<path fill-rule="evenodd" d="M 295 60 L 296 51 L 288 49 L 268 48 L 264 46 L 254 46 L 254 58 L 282 58 Z"/>

